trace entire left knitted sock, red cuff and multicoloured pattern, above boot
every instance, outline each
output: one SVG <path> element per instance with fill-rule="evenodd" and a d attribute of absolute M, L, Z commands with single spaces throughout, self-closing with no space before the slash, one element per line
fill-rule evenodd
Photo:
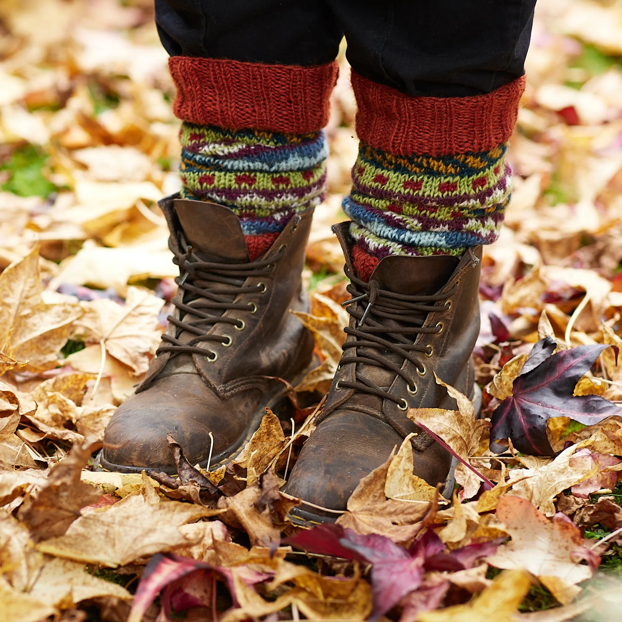
<path fill-rule="evenodd" d="M 295 212 L 322 201 L 328 147 L 321 129 L 337 63 L 174 56 L 169 68 L 183 121 L 182 196 L 230 207 L 256 259 Z"/>

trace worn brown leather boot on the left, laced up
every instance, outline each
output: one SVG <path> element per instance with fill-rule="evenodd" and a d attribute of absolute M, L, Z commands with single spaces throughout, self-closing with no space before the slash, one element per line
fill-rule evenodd
<path fill-rule="evenodd" d="M 307 310 L 301 272 L 313 210 L 295 215 L 272 247 L 249 261 L 238 217 L 222 205 L 160 202 L 179 291 L 156 358 L 136 394 L 114 413 L 100 465 L 175 472 L 167 434 L 192 464 L 233 455 L 309 365 L 313 338 L 290 309 Z"/>

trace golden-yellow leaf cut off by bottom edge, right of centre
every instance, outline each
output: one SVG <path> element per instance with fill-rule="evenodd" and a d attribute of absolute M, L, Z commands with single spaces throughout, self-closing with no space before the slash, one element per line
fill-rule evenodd
<path fill-rule="evenodd" d="M 478 598 L 466 605 L 453 605 L 419 613 L 420 622 L 515 622 L 518 606 L 529 592 L 531 578 L 524 570 L 502 572 Z"/>

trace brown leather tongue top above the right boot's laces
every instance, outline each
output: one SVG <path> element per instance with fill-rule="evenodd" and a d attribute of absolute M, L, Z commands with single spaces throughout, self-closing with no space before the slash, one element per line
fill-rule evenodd
<path fill-rule="evenodd" d="M 369 280 L 378 281 L 379 289 L 396 294 L 430 295 L 447 284 L 459 263 L 460 258 L 451 255 L 389 255 L 380 261 Z"/>

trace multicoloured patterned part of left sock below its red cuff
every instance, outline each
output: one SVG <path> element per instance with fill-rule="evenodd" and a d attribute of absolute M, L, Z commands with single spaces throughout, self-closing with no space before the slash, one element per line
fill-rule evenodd
<path fill-rule="evenodd" d="M 322 202 L 328 146 L 322 131 L 277 134 L 183 123 L 182 197 L 226 205 L 249 256 L 267 251 L 297 211 Z"/>

